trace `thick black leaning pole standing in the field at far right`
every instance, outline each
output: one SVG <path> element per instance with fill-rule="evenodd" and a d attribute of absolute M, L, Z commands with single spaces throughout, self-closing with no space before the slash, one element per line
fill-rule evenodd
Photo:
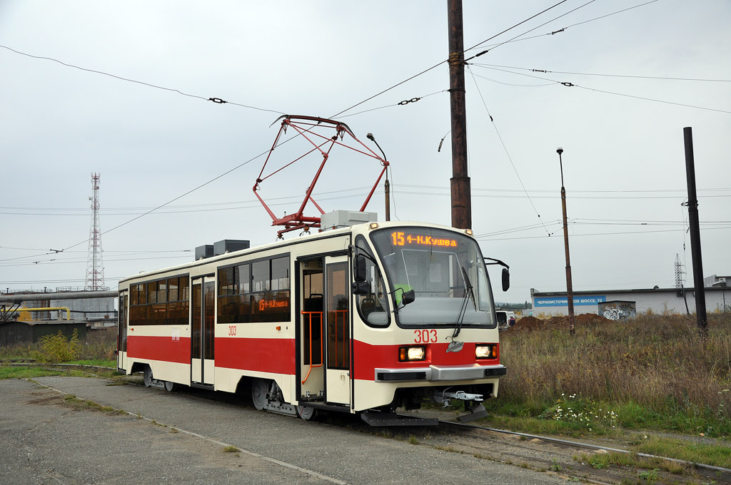
<path fill-rule="evenodd" d="M 708 317 L 705 312 L 705 288 L 703 287 L 703 261 L 700 251 L 700 223 L 698 221 L 698 196 L 695 190 L 695 159 L 693 155 L 693 129 L 683 128 L 686 153 L 686 178 L 688 180 L 688 219 L 690 224 L 690 249 L 693 258 L 693 284 L 695 291 L 695 313 L 698 331 L 708 332 Z"/>

